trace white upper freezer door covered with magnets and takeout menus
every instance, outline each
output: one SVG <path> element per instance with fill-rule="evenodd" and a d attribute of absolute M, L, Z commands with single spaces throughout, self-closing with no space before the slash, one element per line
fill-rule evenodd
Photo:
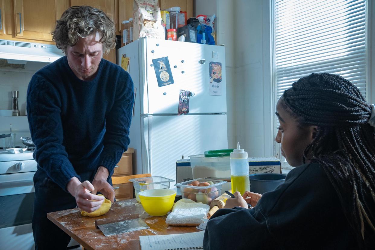
<path fill-rule="evenodd" d="M 225 48 L 223 46 L 145 39 L 149 114 L 177 114 L 180 89 L 194 92 L 189 114 L 226 113 Z M 173 84 L 159 87 L 153 59 L 168 57 Z M 214 58 L 217 57 L 217 58 Z M 222 64 L 221 96 L 209 95 L 210 62 Z"/>

